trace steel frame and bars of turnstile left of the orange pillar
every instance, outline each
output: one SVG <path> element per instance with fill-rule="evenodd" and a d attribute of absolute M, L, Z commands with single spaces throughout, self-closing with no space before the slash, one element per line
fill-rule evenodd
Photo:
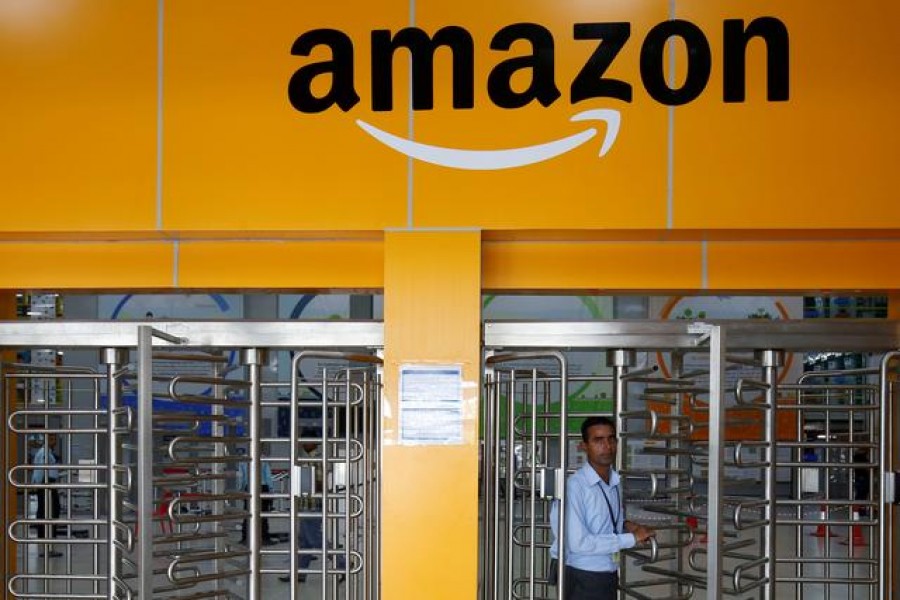
<path fill-rule="evenodd" d="M 182 596 L 178 593 L 179 587 L 184 587 L 177 583 L 179 570 L 199 573 L 191 567 L 191 563 L 202 560 L 215 565 L 214 573 L 199 576 L 196 578 L 197 581 L 208 582 L 226 576 L 247 576 L 246 597 L 259 600 L 262 598 L 261 578 L 263 574 L 295 573 L 297 572 L 298 553 L 311 553 L 309 550 L 303 551 L 298 547 L 298 536 L 294 527 L 298 519 L 296 499 L 301 493 L 306 493 L 322 499 L 320 514 L 323 526 L 333 525 L 335 527 L 334 535 L 340 535 L 345 540 L 345 546 L 340 551 L 328 548 L 319 551 L 318 556 L 322 560 L 321 573 L 323 575 L 322 599 L 341 597 L 377 600 L 380 568 L 378 557 L 378 522 L 380 520 L 378 465 L 381 462 L 377 415 L 380 402 L 380 353 L 383 339 L 382 323 L 372 321 L 0 322 L 0 350 L 20 348 L 96 349 L 101 352 L 101 363 L 106 369 L 105 372 L 99 373 L 81 373 L 77 372 L 80 370 L 66 368 L 46 369 L 45 377 L 47 378 L 58 378 L 60 381 L 64 381 L 66 378 L 81 378 L 94 382 L 95 408 L 91 411 L 81 411 L 84 412 L 84 415 L 79 411 L 72 410 L 34 410 L 33 406 L 30 411 L 17 411 L 12 405 L 15 400 L 4 396 L 4 403 L 0 404 L 0 409 L 3 411 L 4 421 L 9 417 L 9 422 L 3 425 L 5 433 L 2 440 L 3 447 L 0 449 L 0 460 L 7 469 L 2 485 L 4 501 L 7 498 L 15 498 L 16 491 L 22 488 L 57 487 L 57 484 L 40 486 L 32 484 L 30 481 L 26 482 L 25 476 L 30 476 L 34 467 L 18 467 L 8 464 L 14 438 L 17 435 L 29 433 L 27 418 L 35 417 L 38 413 L 41 416 L 45 413 L 52 413 L 54 418 L 68 419 L 65 422 L 70 427 L 60 429 L 61 433 L 94 435 L 95 444 L 100 443 L 105 436 L 108 444 L 106 464 L 96 464 L 95 461 L 93 466 L 87 467 L 71 464 L 55 465 L 62 471 L 93 470 L 100 476 L 93 479 L 93 483 L 79 483 L 71 486 L 89 490 L 89 493 L 93 494 L 95 504 L 93 520 L 89 522 L 83 519 L 58 521 L 69 527 L 74 523 L 90 527 L 92 534 L 88 536 L 88 539 L 74 540 L 70 538 L 64 543 L 73 549 L 84 547 L 85 544 L 94 547 L 93 573 L 86 574 L 84 577 L 75 577 L 71 574 L 53 575 L 46 571 L 30 573 L 27 569 L 24 573 L 6 573 L 0 597 L 36 598 L 49 595 L 54 598 L 153 598 L 155 597 L 154 579 L 158 579 L 161 574 L 165 573 L 168 573 L 171 583 L 174 584 L 168 590 L 174 593 L 171 597 L 190 597 L 192 599 L 234 597 L 227 589 L 218 588 L 218 584 L 216 584 L 217 589 L 222 589 L 222 591 L 197 592 L 190 596 Z M 159 450 L 154 448 L 154 434 L 159 432 L 159 429 L 154 429 L 156 411 L 154 398 L 159 396 L 160 392 L 158 389 L 154 389 L 154 360 L 156 356 L 160 356 L 161 351 L 164 351 L 164 358 L 172 360 L 199 359 L 212 363 L 221 362 L 214 355 L 192 355 L 201 350 L 207 352 L 210 349 L 240 350 L 240 366 L 246 369 L 247 376 L 245 379 L 225 378 L 222 369 L 216 367 L 212 377 L 188 376 L 181 378 L 181 381 L 178 382 L 174 381 L 179 379 L 175 377 L 172 381 L 168 381 L 169 391 L 167 393 L 170 394 L 170 397 L 213 406 L 209 417 L 209 420 L 213 422 L 212 435 L 209 438 L 201 439 L 190 435 L 177 436 L 172 441 L 171 447 L 168 448 L 172 460 L 176 458 L 175 452 L 181 452 L 181 460 L 185 460 L 184 457 L 187 457 L 188 461 L 213 465 L 210 471 L 211 493 L 203 495 L 203 498 L 198 500 L 204 507 L 203 512 L 193 517 L 184 517 L 180 512 L 185 507 L 180 504 L 182 500 L 186 503 L 188 501 L 186 498 L 177 497 L 170 502 L 161 503 L 160 499 L 155 497 L 155 493 L 158 492 L 155 486 L 160 478 L 158 473 L 154 473 L 155 465 L 152 462 L 154 452 Z M 172 352 L 173 350 L 175 352 Z M 292 361 L 290 381 L 262 381 L 261 369 L 264 366 L 266 350 L 296 351 Z M 127 368 L 129 351 L 133 353 L 131 358 L 136 365 L 134 370 Z M 185 354 L 179 355 L 178 352 L 182 351 L 185 351 Z M 360 379 L 355 372 L 351 372 L 352 369 L 335 369 L 335 371 L 341 371 L 338 376 L 343 377 L 342 381 L 325 380 L 328 375 L 324 373 L 321 381 L 301 381 L 297 364 L 303 358 L 311 355 L 348 362 L 368 363 L 369 371 L 373 373 L 372 375 L 365 374 Z M 27 379 L 41 375 L 40 369 L 35 370 L 29 365 L 16 365 L 13 369 L 17 370 L 16 374 L 11 375 L 13 378 Z M 37 374 L 34 374 L 35 371 Z M 123 406 L 121 402 L 123 381 L 126 379 L 129 380 L 129 385 L 136 384 L 137 398 L 133 407 Z M 157 377 L 156 379 L 161 378 Z M 364 386 L 360 385 L 359 381 L 364 381 Z M 208 384 L 211 386 L 212 394 L 203 397 L 194 397 L 190 393 L 178 394 L 174 390 L 179 383 Z M 101 385 L 107 386 L 105 406 L 102 406 L 100 401 Z M 264 399 L 267 386 L 278 385 L 291 386 L 290 398 L 280 404 Z M 297 407 L 303 403 L 303 400 L 300 398 L 298 390 L 303 386 L 311 385 L 319 386 L 322 398 L 320 404 L 323 428 L 321 438 L 317 441 L 326 450 L 319 466 L 327 478 L 331 478 L 333 472 L 335 478 L 337 471 L 343 473 L 343 485 L 340 486 L 342 497 L 338 501 L 342 501 L 343 504 L 329 501 L 328 486 L 332 485 L 331 483 L 303 492 L 299 481 L 303 477 L 303 465 L 295 454 L 300 441 Z M 231 402 L 227 396 L 226 391 L 234 388 L 242 388 L 246 391 L 246 396 L 241 402 Z M 324 427 L 329 418 L 329 411 L 336 405 L 331 400 L 332 395 L 340 393 L 344 393 L 342 408 L 345 409 L 341 414 L 346 419 L 346 424 L 353 427 L 353 432 L 359 434 L 358 439 L 350 439 L 351 429 L 349 428 L 342 430 L 340 438 L 333 438 Z M 9 405 L 6 404 L 7 400 Z M 307 404 L 309 403 L 307 402 Z M 229 437 L 219 425 L 224 420 L 222 408 L 237 405 L 247 408 L 249 415 L 249 431 L 240 439 Z M 261 466 L 263 461 L 275 462 L 278 459 L 267 459 L 261 456 L 260 411 L 263 406 L 276 405 L 289 407 L 291 414 L 291 450 L 283 459 L 283 462 L 290 461 L 286 478 L 289 485 L 284 493 L 278 494 L 271 491 L 266 497 L 271 500 L 287 501 L 291 510 L 283 515 L 274 513 L 263 515 L 261 511 L 263 494 L 260 492 L 259 486 Z M 353 412 L 352 416 L 351 412 Z M 18 413 L 19 416 L 13 413 Z M 77 417 L 75 413 L 78 413 Z M 22 415 L 27 417 L 24 421 L 20 418 Z M 71 429 L 72 419 L 82 416 L 91 417 L 93 426 L 77 431 Z M 179 417 L 173 417 L 173 419 L 178 421 Z M 21 425 L 20 421 L 25 424 Z M 44 434 L 52 433 L 53 429 L 44 428 L 43 432 Z M 233 452 L 228 451 L 230 445 L 244 441 L 248 443 L 249 449 L 246 458 L 236 456 Z M 178 443 L 181 443 L 180 450 L 174 448 L 174 445 Z M 337 450 L 334 455 L 330 455 L 328 448 L 337 448 Z M 340 456 L 338 453 L 341 453 Z M 221 482 L 224 478 L 223 469 L 228 465 L 230 465 L 228 468 L 235 468 L 240 462 L 247 464 L 249 479 L 256 484 L 250 485 L 246 494 L 225 492 L 224 484 Z M 156 466 L 158 467 L 158 465 Z M 337 487 L 336 483 L 334 485 Z M 106 494 L 108 498 L 105 505 L 106 510 L 103 511 L 98 511 L 96 506 L 98 498 L 101 497 L 100 494 Z M 239 500 L 238 496 L 246 497 L 250 507 L 249 511 L 225 514 L 223 506 Z M 160 510 L 166 511 L 168 514 L 160 516 Z M 131 517 L 130 522 L 126 518 L 126 512 Z M 35 543 L 34 539 L 28 540 L 28 536 L 15 534 L 17 528 L 25 527 L 27 529 L 28 527 L 28 524 L 22 521 L 21 516 L 17 515 L 12 521 L 9 521 L 7 514 L 8 509 L 4 509 L 4 513 L 0 515 L 4 530 L 0 558 L 2 558 L 4 566 L 8 564 L 8 561 L 18 560 L 15 554 L 8 555 L 9 552 L 15 553 L 20 544 L 26 544 L 27 547 L 27 544 Z M 261 562 L 263 551 L 260 547 L 260 523 L 264 516 L 268 518 L 283 516 L 289 519 L 291 544 L 289 549 L 282 551 L 281 554 L 289 555 L 290 571 L 277 568 L 267 569 Z M 223 531 L 223 523 L 234 523 L 235 519 L 242 517 L 248 517 L 249 521 L 249 548 L 244 551 L 226 546 L 221 540 L 224 534 L 216 533 L 216 531 Z M 216 531 L 205 537 L 213 539 L 213 551 L 196 556 L 191 556 L 188 549 L 184 552 L 175 551 L 175 554 L 172 554 L 174 560 L 167 565 L 167 569 L 160 571 L 159 561 L 154 561 L 154 558 L 158 559 L 164 553 L 161 553 L 155 546 L 153 532 L 154 521 L 159 521 L 161 518 L 164 520 L 168 518 L 171 523 L 180 523 L 184 526 L 193 524 L 192 526 L 195 525 L 198 530 L 202 523 L 212 523 L 212 527 Z M 179 531 L 181 531 L 182 525 L 177 525 Z M 144 534 L 142 535 L 141 532 Z M 181 548 L 184 542 L 179 539 L 178 532 L 175 533 L 176 535 L 170 536 L 165 543 L 174 544 L 175 548 Z M 48 544 L 49 541 L 46 541 L 43 547 L 50 547 Z M 105 548 L 105 560 L 100 558 L 102 554 L 98 550 L 100 547 Z M 337 580 L 338 573 L 329 569 L 325 564 L 330 554 L 337 553 L 343 553 L 343 556 L 346 557 L 341 574 L 347 577 L 347 584 L 340 595 L 336 585 L 329 589 L 326 578 L 328 575 L 334 581 Z M 224 569 L 223 565 L 228 561 L 242 557 L 247 558 L 246 568 L 233 569 L 227 574 L 219 573 L 219 570 Z M 124 574 L 123 570 L 128 570 L 129 574 Z M 173 573 L 175 573 L 174 578 Z M 56 581 L 59 584 L 60 578 L 67 578 L 70 581 L 78 579 L 92 581 L 94 591 L 93 593 L 83 590 L 77 593 L 56 591 L 52 594 L 35 594 L 30 591 L 34 588 L 33 584 L 35 583 L 43 582 L 42 585 L 48 585 Z M 130 579 L 127 583 L 125 582 L 126 578 Z M 353 582 L 352 586 L 351 582 Z M 72 589 L 71 583 L 66 585 L 67 589 Z M 297 585 L 292 583 L 290 590 L 292 599 L 299 597 Z"/>

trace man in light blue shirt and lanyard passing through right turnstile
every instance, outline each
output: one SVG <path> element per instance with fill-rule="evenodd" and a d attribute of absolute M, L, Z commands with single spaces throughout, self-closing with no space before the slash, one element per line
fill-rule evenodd
<path fill-rule="evenodd" d="M 588 417 L 581 424 L 578 448 L 587 461 L 566 482 L 564 600 L 615 600 L 619 551 L 646 542 L 655 532 L 625 519 L 619 474 L 613 469 L 618 450 L 615 424 L 606 417 Z M 559 556 L 558 521 L 559 506 L 554 502 L 552 558 Z"/>

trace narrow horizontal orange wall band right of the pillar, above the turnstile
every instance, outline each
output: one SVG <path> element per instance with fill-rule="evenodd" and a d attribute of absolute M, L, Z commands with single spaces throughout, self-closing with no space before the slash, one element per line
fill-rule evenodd
<path fill-rule="evenodd" d="M 488 241 L 486 290 L 884 292 L 900 240 Z"/>

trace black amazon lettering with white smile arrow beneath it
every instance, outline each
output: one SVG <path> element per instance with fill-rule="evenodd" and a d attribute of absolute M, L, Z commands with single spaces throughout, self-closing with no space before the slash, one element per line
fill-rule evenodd
<path fill-rule="evenodd" d="M 572 37 L 576 42 L 593 44 L 593 52 L 569 85 L 568 99 L 575 106 L 594 99 L 632 102 L 634 85 L 630 81 L 607 76 L 623 48 L 631 39 L 627 22 L 575 23 Z M 680 83 L 667 78 L 666 45 L 677 39 L 684 45 L 687 68 Z M 765 45 L 766 97 L 770 102 L 784 102 L 790 97 L 790 44 L 787 27 L 775 17 L 759 17 L 745 22 L 726 19 L 722 26 L 722 101 L 746 100 L 747 48 L 759 39 Z M 527 43 L 522 46 L 521 42 Z M 434 57 L 446 49 L 451 57 L 452 106 L 458 110 L 475 108 L 475 42 L 472 34 L 460 26 L 443 27 L 433 35 L 417 27 L 396 32 L 372 31 L 371 38 L 371 108 L 390 111 L 394 108 L 394 59 L 400 50 L 408 53 L 411 69 L 411 95 L 414 111 L 434 109 Z M 514 44 L 530 47 L 530 53 L 508 56 Z M 309 57 L 317 48 L 326 48 L 330 58 L 304 64 L 291 76 L 288 99 L 301 113 L 315 114 L 337 108 L 348 112 L 361 101 L 355 83 L 353 40 L 337 29 L 314 29 L 296 39 L 291 54 Z M 517 109 L 538 103 L 550 106 L 563 92 L 556 75 L 556 41 L 553 34 L 536 23 L 514 23 L 500 29 L 491 38 L 490 49 L 498 53 L 498 61 L 485 82 L 490 102 L 503 109 Z M 640 69 L 637 74 L 644 91 L 666 106 L 680 106 L 698 98 L 706 89 L 712 72 L 713 56 L 706 34 L 690 21 L 663 21 L 647 32 L 641 43 Z M 524 78 L 523 78 L 524 75 Z M 513 78 L 526 85 L 513 85 Z M 320 78 L 325 85 L 315 86 Z M 318 93 L 314 91 L 314 87 Z M 573 121 L 600 120 L 606 123 L 606 134 L 600 156 L 606 154 L 618 135 L 619 112 L 594 109 L 579 112 Z M 559 156 L 596 136 L 590 128 L 573 136 L 524 148 L 503 150 L 464 150 L 442 148 L 409 140 L 382 131 L 362 120 L 357 125 L 381 143 L 433 164 L 461 169 L 504 169 L 523 166 Z"/>

